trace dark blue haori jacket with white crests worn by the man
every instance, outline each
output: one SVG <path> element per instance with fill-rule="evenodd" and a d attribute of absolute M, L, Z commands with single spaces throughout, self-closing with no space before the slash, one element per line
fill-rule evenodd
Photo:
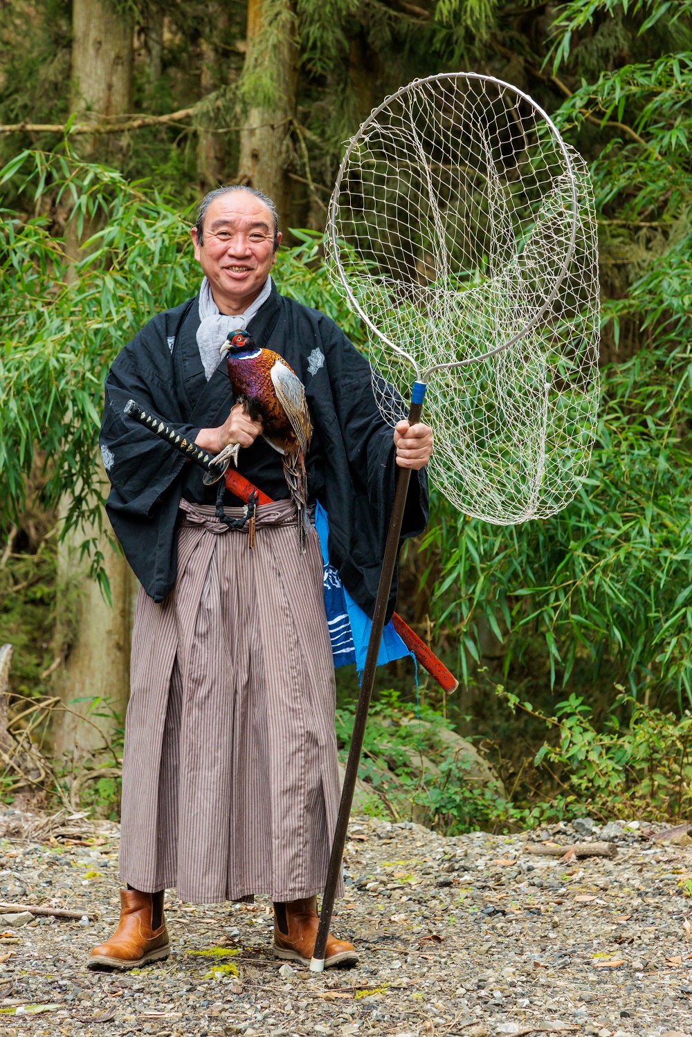
<path fill-rule="evenodd" d="M 216 487 L 202 472 L 122 413 L 129 399 L 188 440 L 228 417 L 233 395 L 226 364 L 207 382 L 199 356 L 197 298 L 159 313 L 115 358 L 106 379 L 101 450 L 111 491 L 106 510 L 144 590 L 163 601 L 175 583 L 182 497 L 212 504 Z M 314 427 L 308 489 L 329 515 L 329 557 L 357 604 L 371 617 L 394 498 L 394 443 L 378 410 L 370 367 L 324 313 L 272 293 L 248 326 L 258 346 L 274 349 L 305 386 Z M 258 438 L 241 450 L 239 470 L 274 499 L 288 489 L 276 451 Z M 226 504 L 239 501 L 226 495 Z M 413 473 L 402 539 L 427 523 L 427 479 Z M 396 602 L 396 579 L 387 618 Z"/>

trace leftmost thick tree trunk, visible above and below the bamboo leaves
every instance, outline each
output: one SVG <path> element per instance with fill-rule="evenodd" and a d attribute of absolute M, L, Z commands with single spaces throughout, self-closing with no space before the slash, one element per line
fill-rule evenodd
<path fill-rule="evenodd" d="M 94 122 L 131 112 L 133 63 L 132 12 L 118 11 L 111 0 L 73 0 L 71 110 Z M 115 135 L 79 138 L 83 158 L 108 161 L 121 149 L 122 142 Z M 65 251 L 75 261 L 84 255 L 81 242 L 96 229 L 93 221 L 85 220 L 80 237 L 76 221 L 66 222 Z M 99 466 L 106 485 L 101 461 Z M 63 515 L 68 504 L 65 496 Z M 109 528 L 105 514 L 103 525 Z M 89 576 L 89 558 L 80 558 L 87 537 L 96 539 L 104 556 L 112 608 Z M 75 530 L 60 544 L 56 644 L 65 645 L 67 652 L 54 685 L 70 712 L 56 711 L 53 722 L 53 748 L 59 756 L 75 761 L 98 759 L 118 736 L 130 694 L 134 593 L 134 574 L 124 558 L 113 551 L 106 533 L 95 528 Z M 95 699 L 104 701 L 94 706 Z"/>

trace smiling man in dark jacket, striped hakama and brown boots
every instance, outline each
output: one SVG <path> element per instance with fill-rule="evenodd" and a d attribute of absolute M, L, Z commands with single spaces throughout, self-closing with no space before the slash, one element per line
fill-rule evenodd
<path fill-rule="evenodd" d="M 270 895 L 275 953 L 312 955 L 338 809 L 334 671 L 317 536 L 299 555 L 281 458 L 232 401 L 219 351 L 247 328 L 305 385 L 313 425 L 310 500 L 330 518 L 330 560 L 370 615 L 395 464 L 412 480 L 404 536 L 427 521 L 432 433 L 392 436 L 366 361 L 324 314 L 270 277 L 281 234 L 272 202 L 222 188 L 192 228 L 199 295 L 154 317 L 106 381 L 101 435 L 107 510 L 142 587 L 137 600 L 122 772 L 120 922 L 90 965 L 131 969 L 169 951 L 166 888 L 198 903 Z M 276 503 L 246 529 L 215 517 L 216 487 L 123 416 L 134 398 L 211 453 L 239 443 L 239 469 Z M 394 464 L 395 461 L 395 464 Z M 240 504 L 226 493 L 225 511 Z M 395 601 L 395 588 L 390 613 Z M 326 965 L 357 960 L 330 936 Z"/>

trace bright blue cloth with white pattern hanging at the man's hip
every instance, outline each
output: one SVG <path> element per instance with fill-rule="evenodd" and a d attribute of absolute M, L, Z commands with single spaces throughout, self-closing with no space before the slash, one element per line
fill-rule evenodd
<path fill-rule="evenodd" d="M 370 636 L 372 621 L 368 619 L 360 606 L 356 605 L 351 594 L 342 585 L 338 572 L 329 561 L 329 522 L 327 512 L 317 501 L 314 510 L 314 528 L 320 537 L 322 560 L 325 566 L 325 611 L 329 625 L 329 636 L 332 641 L 334 667 L 348 666 L 355 663 L 359 673 L 365 666 L 367 642 Z M 412 655 L 391 622 L 387 623 L 382 634 L 378 666 L 391 663 L 395 658 Z"/>

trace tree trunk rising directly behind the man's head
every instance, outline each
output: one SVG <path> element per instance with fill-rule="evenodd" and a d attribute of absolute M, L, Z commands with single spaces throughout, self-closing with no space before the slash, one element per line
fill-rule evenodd
<path fill-rule="evenodd" d="M 286 2 L 282 25 L 270 31 L 265 23 L 261 0 L 248 0 L 247 51 L 245 65 L 249 75 L 266 77 L 262 91 L 271 104 L 250 102 L 241 131 L 238 180 L 264 191 L 279 216 L 279 228 L 288 229 L 290 179 L 290 133 L 296 117 L 298 89 L 298 44 L 295 13 Z M 244 73 L 245 76 L 245 73 Z M 251 96 L 248 90 L 247 95 Z"/>

